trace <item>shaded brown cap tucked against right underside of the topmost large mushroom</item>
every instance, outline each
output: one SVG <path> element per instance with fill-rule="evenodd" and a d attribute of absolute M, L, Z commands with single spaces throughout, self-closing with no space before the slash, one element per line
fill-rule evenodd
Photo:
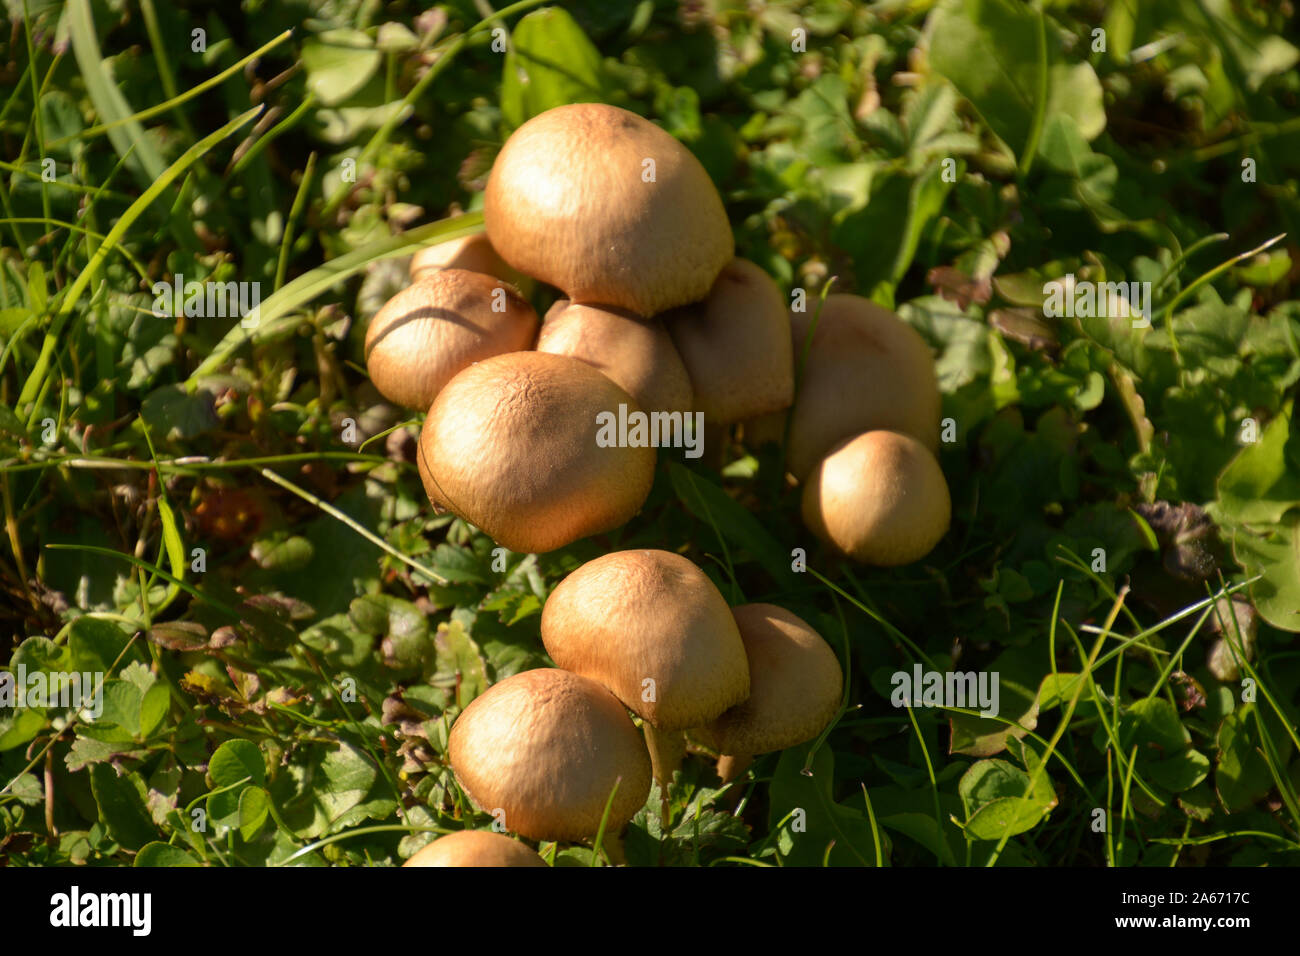
<path fill-rule="evenodd" d="M 733 259 L 707 299 L 664 321 L 706 421 L 731 424 L 790 406 L 790 313 L 780 287 L 758 265 Z"/>

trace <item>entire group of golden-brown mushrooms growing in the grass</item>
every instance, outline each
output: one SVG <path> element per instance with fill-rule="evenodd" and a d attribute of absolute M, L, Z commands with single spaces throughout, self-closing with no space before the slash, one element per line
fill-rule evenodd
<path fill-rule="evenodd" d="M 714 438 L 785 436 L 805 524 L 850 558 L 906 563 L 946 532 L 924 341 L 855 295 L 814 316 L 788 308 L 736 258 L 703 166 L 658 126 L 603 104 L 533 117 L 497 156 L 484 222 L 421 250 L 365 339 L 380 392 L 425 414 L 416 466 L 434 507 L 514 551 L 611 531 L 644 505 L 656 454 L 602 441 L 602 416 L 680 415 Z M 558 290 L 545 321 L 529 302 L 543 286 Z M 728 607 L 671 551 L 578 567 L 541 630 L 556 667 L 494 684 L 448 740 L 469 799 L 530 839 L 586 840 L 603 821 L 616 855 L 651 778 L 667 793 L 688 731 L 731 780 L 753 754 L 822 734 L 840 706 L 840 665 L 806 622 Z M 473 856 L 450 839 L 429 857 Z"/>

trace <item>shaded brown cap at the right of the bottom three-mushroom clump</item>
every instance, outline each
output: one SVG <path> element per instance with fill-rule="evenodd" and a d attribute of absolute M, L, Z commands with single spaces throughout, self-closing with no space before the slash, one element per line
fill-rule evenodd
<path fill-rule="evenodd" d="M 701 737 L 720 753 L 768 753 L 811 740 L 840 709 L 844 671 L 822 635 L 770 604 L 733 607 L 749 658 L 749 698 Z"/>

